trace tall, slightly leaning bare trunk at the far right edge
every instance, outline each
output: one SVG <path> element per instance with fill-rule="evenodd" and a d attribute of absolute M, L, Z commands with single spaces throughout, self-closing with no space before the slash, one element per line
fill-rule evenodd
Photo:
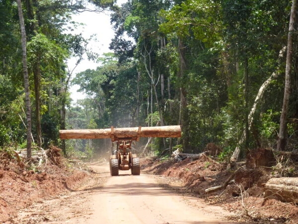
<path fill-rule="evenodd" d="M 286 77 L 285 77 L 285 92 L 283 109 L 280 118 L 280 129 L 277 142 L 277 150 L 283 151 L 287 144 L 287 114 L 289 111 L 289 99 L 291 93 L 291 67 L 292 67 L 292 54 L 293 54 L 293 34 L 295 31 L 296 22 L 296 8 L 297 0 L 293 0 L 290 15 L 289 33 L 288 33 L 288 46 L 287 46 L 287 64 L 286 64 Z"/>

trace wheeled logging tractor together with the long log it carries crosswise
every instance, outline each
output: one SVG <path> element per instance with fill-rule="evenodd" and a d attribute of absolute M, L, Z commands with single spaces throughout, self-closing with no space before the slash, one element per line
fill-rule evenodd
<path fill-rule="evenodd" d="M 132 143 L 140 137 L 181 137 L 180 125 L 156 127 L 123 127 L 105 129 L 60 130 L 61 139 L 111 138 L 110 172 L 118 176 L 119 170 L 131 169 L 132 175 L 140 175 L 140 159 L 132 152 Z"/>

